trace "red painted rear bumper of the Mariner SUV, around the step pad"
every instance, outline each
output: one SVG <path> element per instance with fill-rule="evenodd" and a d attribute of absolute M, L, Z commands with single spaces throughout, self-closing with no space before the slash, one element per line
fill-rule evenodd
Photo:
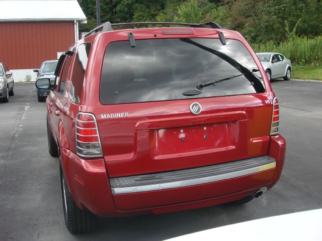
<path fill-rule="evenodd" d="M 285 149 L 285 140 L 277 135 L 270 138 L 269 148 L 269 156 L 276 160 L 275 167 L 209 183 L 123 194 L 112 194 L 103 158 L 84 160 L 62 148 L 61 161 L 68 187 L 79 207 L 99 216 L 119 216 L 217 205 L 251 195 L 262 187 L 271 188 L 281 175 Z"/>

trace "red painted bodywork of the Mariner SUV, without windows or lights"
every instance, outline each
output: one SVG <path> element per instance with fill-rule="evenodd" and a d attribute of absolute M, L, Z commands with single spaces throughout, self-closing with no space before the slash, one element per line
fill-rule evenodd
<path fill-rule="evenodd" d="M 154 34 L 157 38 L 218 38 L 217 30 L 212 29 L 194 29 L 194 35 L 186 36 L 162 35 L 162 30 L 164 28 L 112 31 L 78 41 L 77 46 L 92 42 L 80 103 L 68 100 L 70 83 L 66 84 L 64 96 L 51 91 L 48 97 L 52 102 L 48 118 L 60 148 L 71 194 L 79 207 L 97 215 L 164 213 L 216 205 L 243 198 L 264 186 L 271 188 L 280 177 L 285 140 L 280 135 L 269 136 L 275 94 L 254 51 L 237 32 L 222 30 L 226 39 L 239 40 L 248 48 L 264 78 L 264 93 L 198 98 L 202 105 L 199 115 L 189 110 L 195 99 L 100 103 L 99 83 L 105 48 L 113 41 L 128 41 L 128 32 L 133 32 L 135 39 L 155 38 Z M 73 64 L 68 80 L 72 77 L 72 68 Z M 60 111 L 58 117 L 54 115 L 55 110 Z M 75 155 L 75 117 L 80 111 L 93 113 L 97 118 L 102 158 L 86 159 Z M 129 116 L 101 117 L 121 112 Z M 276 168 L 214 183 L 133 194 L 112 195 L 109 185 L 110 177 L 180 170 L 263 155 L 275 158 Z"/>

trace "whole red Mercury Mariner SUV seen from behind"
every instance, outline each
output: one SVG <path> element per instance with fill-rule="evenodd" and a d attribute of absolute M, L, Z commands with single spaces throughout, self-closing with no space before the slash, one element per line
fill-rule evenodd
<path fill-rule="evenodd" d="M 174 27 L 119 28 L 160 24 Z M 48 148 L 60 157 L 71 233 L 92 230 L 97 215 L 243 204 L 281 175 L 278 101 L 235 31 L 107 22 L 60 57 L 55 75 L 36 86 L 51 89 Z"/>

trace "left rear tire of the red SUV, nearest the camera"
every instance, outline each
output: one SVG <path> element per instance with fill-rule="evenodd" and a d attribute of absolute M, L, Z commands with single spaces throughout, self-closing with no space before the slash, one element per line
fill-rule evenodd
<path fill-rule="evenodd" d="M 82 210 L 75 204 L 69 191 L 64 173 L 60 167 L 60 184 L 65 224 L 70 233 L 87 233 L 95 229 L 97 217 L 90 211 Z"/>

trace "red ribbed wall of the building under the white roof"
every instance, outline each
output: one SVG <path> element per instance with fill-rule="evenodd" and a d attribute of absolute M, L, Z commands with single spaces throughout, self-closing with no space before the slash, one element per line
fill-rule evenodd
<path fill-rule="evenodd" d="M 0 33 L 6 36 L 0 43 L 0 62 L 10 69 L 39 68 L 75 42 L 73 21 L 0 23 Z"/>

